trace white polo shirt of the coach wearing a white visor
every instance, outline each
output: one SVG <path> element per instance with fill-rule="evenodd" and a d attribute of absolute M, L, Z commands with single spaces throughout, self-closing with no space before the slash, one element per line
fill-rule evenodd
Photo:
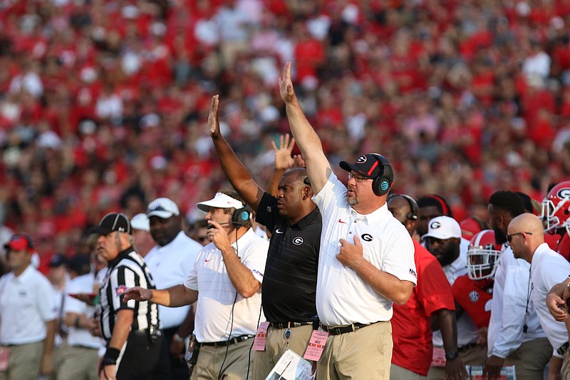
<path fill-rule="evenodd" d="M 263 282 L 269 242 L 256 236 L 250 228 L 232 247 L 254 277 Z M 249 298 L 237 293 L 227 275 L 222 252 L 214 243 L 210 243 L 199 253 L 184 286 L 198 292 L 194 329 L 198 342 L 220 342 L 240 335 L 254 335 L 257 321 L 265 320 L 263 314 L 259 319 L 261 289 Z M 230 330 L 232 337 L 229 337 Z"/>

